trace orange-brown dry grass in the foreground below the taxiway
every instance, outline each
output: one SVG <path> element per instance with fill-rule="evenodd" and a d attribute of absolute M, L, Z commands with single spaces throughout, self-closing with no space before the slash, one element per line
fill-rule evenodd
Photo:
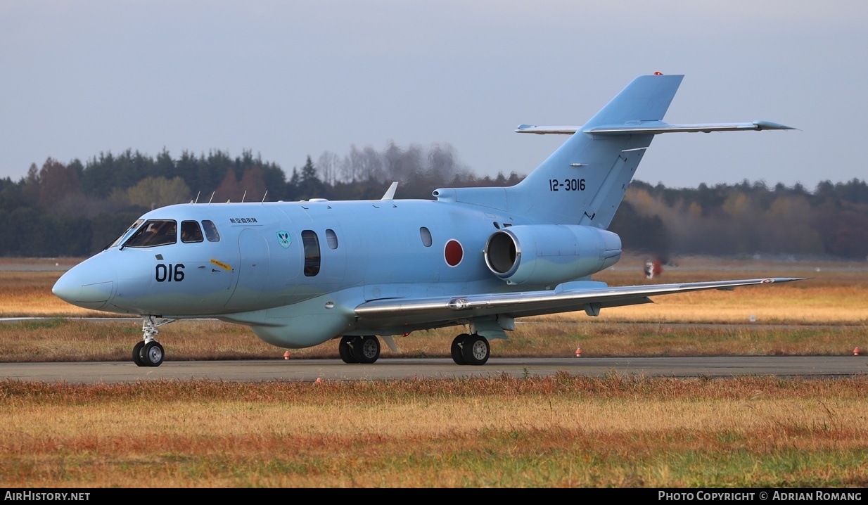
<path fill-rule="evenodd" d="M 0 383 L 10 487 L 868 484 L 868 378 Z"/>

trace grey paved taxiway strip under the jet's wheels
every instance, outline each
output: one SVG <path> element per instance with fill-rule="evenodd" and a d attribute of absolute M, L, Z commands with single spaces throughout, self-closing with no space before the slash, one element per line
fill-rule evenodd
<path fill-rule="evenodd" d="M 155 368 L 124 362 L 4 363 L 0 378 L 69 384 L 122 384 L 206 379 L 231 382 L 397 380 L 409 378 L 550 377 L 849 377 L 868 373 L 865 356 L 799 357 L 492 357 L 483 366 L 449 358 L 385 358 L 376 364 L 339 359 L 167 361 Z"/>

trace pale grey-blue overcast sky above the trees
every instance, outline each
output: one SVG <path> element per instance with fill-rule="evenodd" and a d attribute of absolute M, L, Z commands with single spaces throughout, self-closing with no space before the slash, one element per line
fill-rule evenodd
<path fill-rule="evenodd" d="M 636 75 L 684 74 L 636 177 L 868 179 L 868 3 L 0 0 L 0 177 L 128 148 L 252 150 L 287 172 L 352 144 L 450 143 L 527 174 Z M 400 196 L 398 194 L 398 196 Z"/>

